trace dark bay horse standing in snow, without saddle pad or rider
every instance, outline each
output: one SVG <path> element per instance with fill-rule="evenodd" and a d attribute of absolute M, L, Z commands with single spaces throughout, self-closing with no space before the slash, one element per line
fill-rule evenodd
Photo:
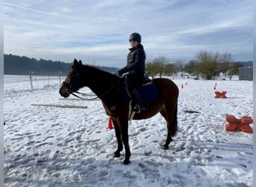
<path fill-rule="evenodd" d="M 120 157 L 121 150 L 125 148 L 124 164 L 128 165 L 131 156 L 128 137 L 129 102 L 125 101 L 121 95 L 121 82 L 124 82 L 124 79 L 74 59 L 59 93 L 61 96 L 68 97 L 70 93 L 78 93 L 80 88 L 88 87 L 101 99 L 106 114 L 109 115 L 115 127 L 118 150 L 115 151 L 114 157 Z M 171 137 L 174 137 L 177 132 L 179 90 L 170 79 L 158 78 L 153 79 L 152 82 L 158 97 L 156 100 L 147 102 L 147 111 L 135 114 L 133 120 L 147 119 L 160 112 L 167 121 L 168 133 L 163 145 L 163 149 L 167 150 L 172 141 Z"/>

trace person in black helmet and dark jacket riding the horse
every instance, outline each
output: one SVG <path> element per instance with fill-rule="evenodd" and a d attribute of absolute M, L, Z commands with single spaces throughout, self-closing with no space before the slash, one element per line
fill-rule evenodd
<path fill-rule="evenodd" d="M 127 74 L 127 88 L 129 93 L 132 95 L 132 101 L 138 103 L 137 107 L 134 108 L 136 113 L 146 111 L 144 103 L 141 99 L 141 95 L 138 92 L 138 86 L 143 84 L 144 72 L 145 72 L 145 60 L 146 55 L 144 47 L 141 45 L 141 35 L 138 33 L 132 33 L 129 36 L 129 54 L 127 55 L 127 66 L 118 71 L 118 76 Z"/>

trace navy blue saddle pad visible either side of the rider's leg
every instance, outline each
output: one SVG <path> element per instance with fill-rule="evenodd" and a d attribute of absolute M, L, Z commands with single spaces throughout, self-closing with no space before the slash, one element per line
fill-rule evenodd
<path fill-rule="evenodd" d="M 122 82 L 122 85 L 121 85 L 121 92 L 122 92 L 123 99 L 129 102 L 130 99 L 127 94 L 127 90 L 124 82 Z M 153 83 L 150 83 L 148 85 L 141 85 L 140 87 L 138 87 L 138 92 L 141 94 L 141 99 L 144 102 L 154 101 L 158 98 L 156 86 Z"/>

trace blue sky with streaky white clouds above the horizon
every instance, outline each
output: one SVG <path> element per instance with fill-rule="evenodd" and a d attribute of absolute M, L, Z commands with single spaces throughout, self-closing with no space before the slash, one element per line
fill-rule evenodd
<path fill-rule="evenodd" d="M 252 61 L 253 0 L 5 0 L 4 54 L 124 67 L 129 34 L 147 61 L 201 50 Z"/>

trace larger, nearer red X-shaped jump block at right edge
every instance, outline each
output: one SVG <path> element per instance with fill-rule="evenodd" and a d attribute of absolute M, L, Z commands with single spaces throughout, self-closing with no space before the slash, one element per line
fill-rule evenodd
<path fill-rule="evenodd" d="M 237 119 L 234 115 L 226 115 L 228 124 L 226 125 L 226 131 L 235 132 L 240 129 L 243 132 L 253 133 L 250 123 L 252 123 L 252 117 L 243 116 L 241 119 Z"/>

